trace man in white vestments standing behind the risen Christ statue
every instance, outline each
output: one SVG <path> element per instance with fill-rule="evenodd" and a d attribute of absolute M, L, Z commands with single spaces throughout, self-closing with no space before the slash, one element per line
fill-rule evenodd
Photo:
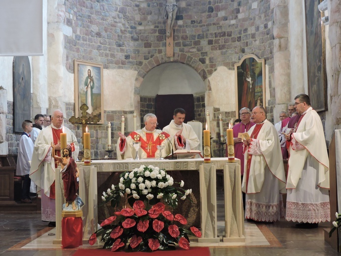
<path fill-rule="evenodd" d="M 66 133 L 67 148 L 72 151 L 73 159 L 78 158 L 79 146 L 73 132 L 63 127 L 63 113 L 55 110 L 51 125 L 42 129 L 35 140 L 32 155 L 30 178 L 37 185 L 37 193 L 41 194 L 41 220 L 48 221 L 49 226 L 56 222 L 55 204 L 55 171 L 57 161 L 51 158 L 51 143 L 55 144 L 56 155 L 61 154 L 61 133 Z"/>

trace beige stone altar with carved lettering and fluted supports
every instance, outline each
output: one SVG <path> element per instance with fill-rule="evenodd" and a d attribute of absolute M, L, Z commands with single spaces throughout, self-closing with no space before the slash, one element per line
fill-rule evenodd
<path fill-rule="evenodd" d="M 245 241 L 240 161 L 236 159 L 235 163 L 229 163 L 228 158 L 212 158 L 211 161 L 211 164 L 204 164 L 203 159 L 92 160 L 91 165 L 84 165 L 84 162 L 81 161 L 76 162 L 80 170 L 79 195 L 85 202 L 82 208 L 83 241 L 88 241 L 93 232 L 98 228 L 97 173 L 131 171 L 141 165 L 153 165 L 166 171 L 199 171 L 201 215 L 204 216 L 201 221 L 203 242 L 210 241 L 207 239 L 211 238 L 219 239 L 217 237 L 216 170 L 223 170 L 225 201 L 225 237 L 223 241 Z M 56 184 L 60 184 L 60 182 L 61 175 L 59 170 L 57 170 Z M 62 240 L 62 204 L 62 189 L 60 186 L 56 186 L 56 240 L 54 241 L 56 244 Z"/>

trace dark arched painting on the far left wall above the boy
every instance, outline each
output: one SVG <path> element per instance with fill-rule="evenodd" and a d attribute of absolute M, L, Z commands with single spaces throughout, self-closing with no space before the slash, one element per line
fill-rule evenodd
<path fill-rule="evenodd" d="M 22 132 L 22 123 L 31 120 L 31 64 L 27 56 L 13 60 L 13 120 L 15 132 Z"/>

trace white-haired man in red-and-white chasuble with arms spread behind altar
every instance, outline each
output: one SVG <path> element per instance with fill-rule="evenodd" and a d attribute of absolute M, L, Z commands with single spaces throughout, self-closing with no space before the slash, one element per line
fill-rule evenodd
<path fill-rule="evenodd" d="M 133 142 L 141 142 L 141 148 L 138 150 L 139 158 L 160 158 L 170 154 L 170 138 L 167 132 L 156 129 L 157 118 L 154 114 L 147 114 L 144 116 L 143 121 L 145 127 L 131 132 L 127 137 L 119 132 L 120 139 L 117 142 L 117 158 L 129 159 L 135 158 L 136 150 L 134 149 Z M 161 156 L 157 150 L 158 145 L 163 145 Z"/>

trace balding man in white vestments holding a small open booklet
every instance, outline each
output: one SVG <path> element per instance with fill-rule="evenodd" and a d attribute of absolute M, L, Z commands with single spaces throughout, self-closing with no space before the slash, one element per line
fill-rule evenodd
<path fill-rule="evenodd" d="M 246 193 L 245 217 L 258 222 L 275 222 L 283 216 L 285 173 L 276 128 L 266 120 L 265 109 L 252 109 L 255 126 L 245 141 L 242 191 Z"/>

